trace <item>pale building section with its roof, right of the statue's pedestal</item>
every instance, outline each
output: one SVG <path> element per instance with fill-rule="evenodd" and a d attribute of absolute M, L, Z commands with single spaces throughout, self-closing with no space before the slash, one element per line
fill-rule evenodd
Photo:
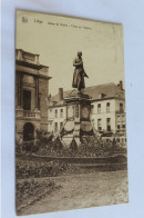
<path fill-rule="evenodd" d="M 125 132 L 125 91 L 123 82 L 88 88 L 92 96 L 92 121 L 100 132 Z"/>

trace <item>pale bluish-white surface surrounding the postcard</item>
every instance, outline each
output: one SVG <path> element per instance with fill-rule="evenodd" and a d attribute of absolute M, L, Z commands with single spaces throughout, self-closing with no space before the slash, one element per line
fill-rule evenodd
<path fill-rule="evenodd" d="M 124 24 L 125 76 L 128 138 L 130 204 L 85 210 L 49 214 L 49 217 L 143 217 L 143 99 L 144 2 L 140 0 L 2 1 L 2 217 L 16 218 L 14 210 L 14 12 L 16 8 Z M 137 98 L 138 97 L 138 98 Z M 8 107 L 9 106 L 9 107 Z M 138 107 L 137 107 L 138 106 Z M 140 131 L 141 129 L 141 131 Z M 6 133 L 7 132 L 7 133 Z M 9 208 L 9 209 L 8 209 Z M 37 215 L 31 217 L 48 217 Z"/>

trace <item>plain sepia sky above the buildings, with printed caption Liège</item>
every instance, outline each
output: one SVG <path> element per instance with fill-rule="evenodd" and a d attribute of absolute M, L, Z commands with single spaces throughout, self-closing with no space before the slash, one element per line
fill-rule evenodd
<path fill-rule="evenodd" d="M 25 20 L 25 22 L 22 22 Z M 124 82 L 123 27 L 84 19 L 17 11 L 16 48 L 49 66 L 49 93 L 72 89 L 73 59 L 82 51 L 85 86 Z"/>

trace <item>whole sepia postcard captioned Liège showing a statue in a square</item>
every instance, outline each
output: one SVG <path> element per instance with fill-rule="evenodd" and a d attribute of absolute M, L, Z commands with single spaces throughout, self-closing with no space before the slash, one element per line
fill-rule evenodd
<path fill-rule="evenodd" d="M 123 27 L 17 11 L 16 211 L 128 202 Z"/>

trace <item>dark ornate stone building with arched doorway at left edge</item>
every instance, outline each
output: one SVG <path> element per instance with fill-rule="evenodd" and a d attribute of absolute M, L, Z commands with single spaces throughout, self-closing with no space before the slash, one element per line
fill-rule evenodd
<path fill-rule="evenodd" d="M 16 50 L 16 133 L 31 140 L 35 129 L 48 130 L 49 67 L 39 54 Z"/>

